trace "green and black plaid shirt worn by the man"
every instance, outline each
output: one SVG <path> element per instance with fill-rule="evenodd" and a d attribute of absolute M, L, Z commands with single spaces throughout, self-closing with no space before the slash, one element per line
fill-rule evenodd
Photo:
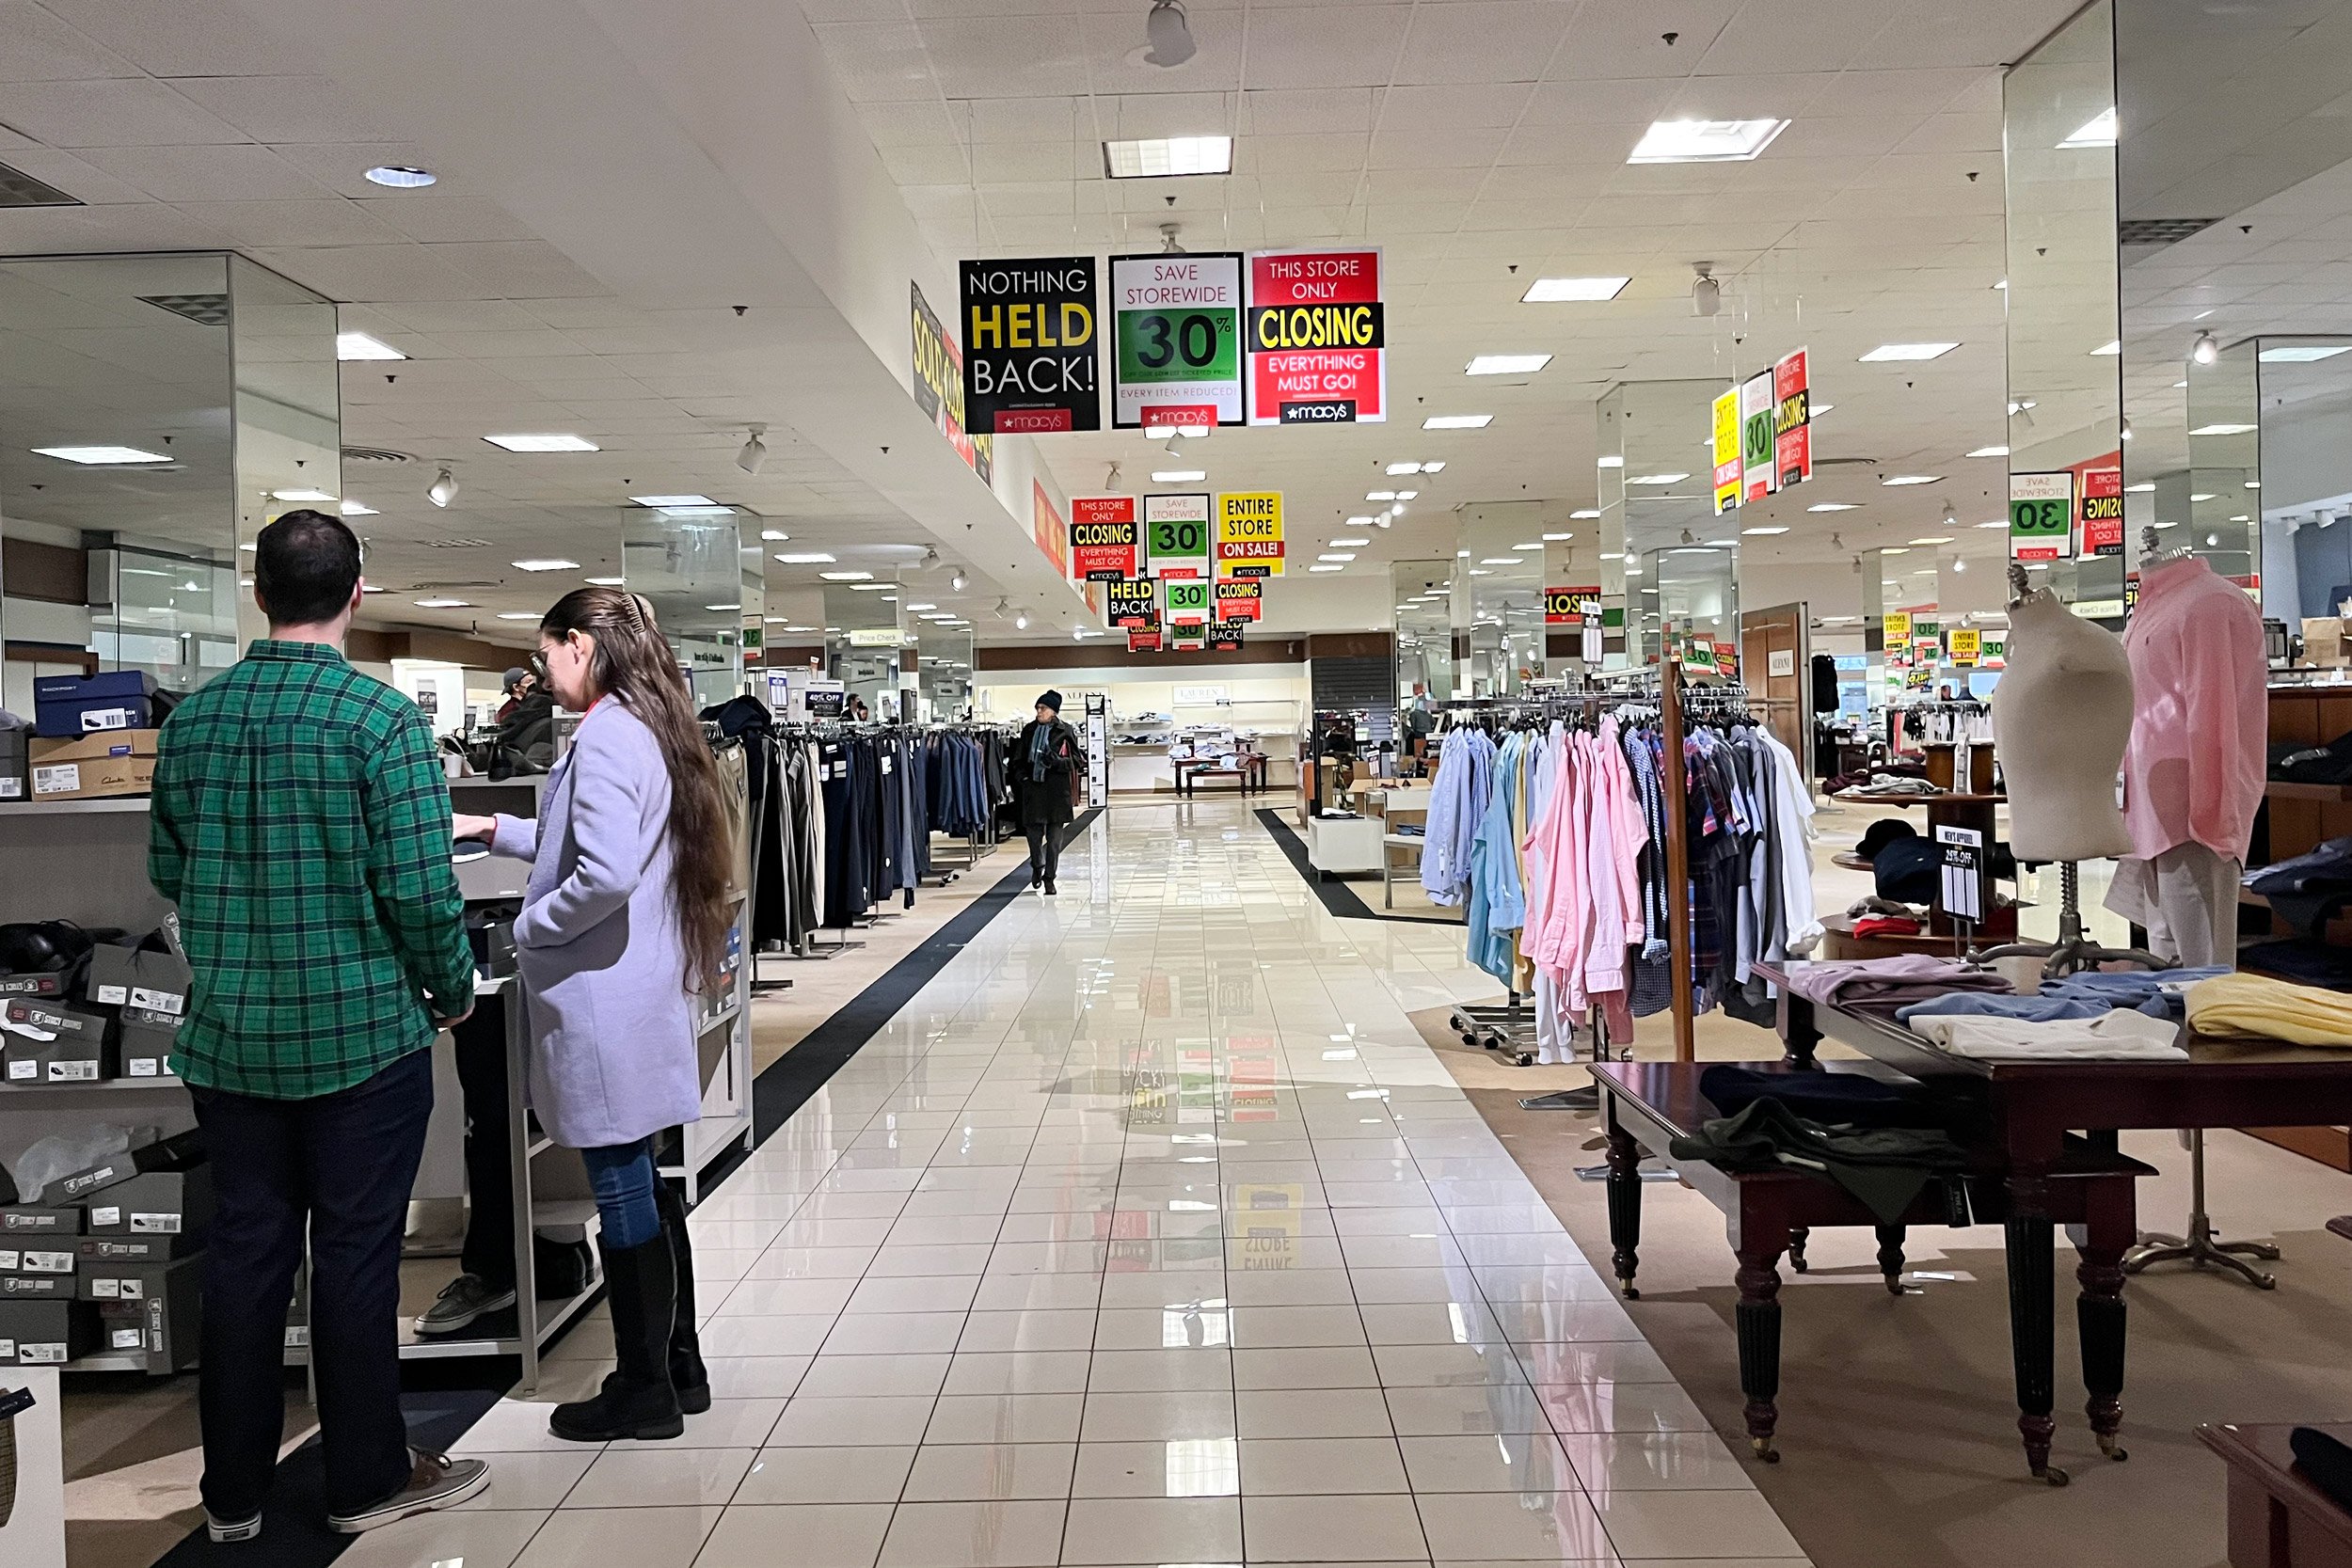
<path fill-rule="evenodd" d="M 334 1093 L 473 1006 L 433 729 L 325 644 L 254 642 L 172 710 L 148 879 L 195 971 L 188 1084 Z"/>

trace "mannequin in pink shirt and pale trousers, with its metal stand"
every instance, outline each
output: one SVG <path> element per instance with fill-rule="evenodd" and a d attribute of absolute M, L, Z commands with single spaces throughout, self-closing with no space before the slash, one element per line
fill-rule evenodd
<path fill-rule="evenodd" d="M 2145 926 L 2147 945 L 2178 964 L 2230 966 L 2239 872 L 2267 771 L 2263 611 L 2190 550 L 2159 550 L 2154 529 L 2140 543 L 2140 604 L 2124 632 L 2136 693 L 2124 755 L 2131 851 L 2114 867 L 2107 907 Z M 2187 1262 L 2270 1291 L 2277 1279 L 2246 1258 L 2277 1258 L 2279 1248 L 2213 1237 L 2204 1131 L 2187 1143 L 2187 1237 L 2147 1237 L 2124 1255 L 2124 1269 Z"/>

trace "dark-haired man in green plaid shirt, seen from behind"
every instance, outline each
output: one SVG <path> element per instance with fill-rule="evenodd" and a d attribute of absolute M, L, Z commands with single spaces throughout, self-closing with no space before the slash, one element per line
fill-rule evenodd
<path fill-rule="evenodd" d="M 148 849 L 195 971 L 174 1056 L 219 1204 L 198 1401 L 221 1542 L 261 1535 L 306 1234 L 327 1526 L 369 1530 L 489 1483 L 482 1460 L 412 1448 L 400 1413 L 400 1232 L 430 1046 L 473 1011 L 449 788 L 416 705 L 343 661 L 360 541 L 339 517 L 261 529 L 254 602 L 270 635 L 162 729 Z"/>

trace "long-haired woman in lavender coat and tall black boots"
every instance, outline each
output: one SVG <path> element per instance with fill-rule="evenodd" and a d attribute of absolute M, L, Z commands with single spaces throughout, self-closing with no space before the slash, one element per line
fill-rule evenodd
<path fill-rule="evenodd" d="M 555 1406 L 555 1436 L 668 1439 L 710 1408 L 684 1204 L 654 1133 L 701 1117 L 696 997 L 727 947 L 727 806 L 677 656 L 640 595 L 581 588 L 539 623 L 541 684 L 583 715 L 539 820 L 459 816 L 463 839 L 532 860 L 515 950 L 532 1016 L 532 1107 L 581 1152 L 619 1366 Z"/>

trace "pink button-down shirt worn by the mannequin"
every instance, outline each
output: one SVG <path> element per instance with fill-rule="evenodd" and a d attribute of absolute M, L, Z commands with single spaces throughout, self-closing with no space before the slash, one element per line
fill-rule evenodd
<path fill-rule="evenodd" d="M 2131 851 L 2154 860 L 2197 842 L 2244 860 L 2270 733 L 2263 611 L 2201 559 L 2171 562 L 2140 578 L 2124 651 L 2133 691 L 2124 750 Z"/>

